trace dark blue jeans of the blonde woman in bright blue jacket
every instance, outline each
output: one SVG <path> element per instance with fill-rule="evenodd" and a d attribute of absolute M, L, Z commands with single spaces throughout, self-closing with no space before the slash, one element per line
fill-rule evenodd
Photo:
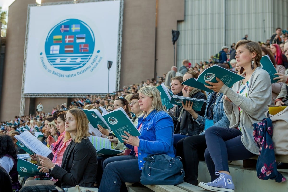
<path fill-rule="evenodd" d="M 138 157 L 134 155 L 109 157 L 103 162 L 99 192 L 127 191 L 125 182 L 140 182 Z"/>

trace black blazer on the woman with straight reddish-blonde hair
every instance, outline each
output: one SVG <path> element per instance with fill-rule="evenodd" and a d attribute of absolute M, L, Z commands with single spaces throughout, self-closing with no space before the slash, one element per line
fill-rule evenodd
<path fill-rule="evenodd" d="M 97 153 L 89 139 L 81 143 L 73 141 L 67 146 L 62 160 L 62 166 L 56 165 L 50 176 L 62 182 L 62 188 L 93 187 L 97 175 Z"/>

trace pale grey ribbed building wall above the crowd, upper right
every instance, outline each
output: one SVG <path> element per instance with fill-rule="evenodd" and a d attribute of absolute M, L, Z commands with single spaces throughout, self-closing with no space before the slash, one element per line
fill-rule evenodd
<path fill-rule="evenodd" d="M 177 66 L 183 59 L 208 61 L 223 45 L 248 34 L 265 42 L 277 27 L 288 27 L 288 0 L 185 0 L 184 21 L 178 22 Z"/>

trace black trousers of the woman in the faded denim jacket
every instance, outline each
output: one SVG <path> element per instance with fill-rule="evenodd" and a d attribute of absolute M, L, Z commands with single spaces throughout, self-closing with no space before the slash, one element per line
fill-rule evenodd
<path fill-rule="evenodd" d="M 184 179 L 192 185 L 198 184 L 199 160 L 204 160 L 206 147 L 205 135 L 192 135 L 177 143 L 177 156 L 182 157 L 185 171 Z"/>

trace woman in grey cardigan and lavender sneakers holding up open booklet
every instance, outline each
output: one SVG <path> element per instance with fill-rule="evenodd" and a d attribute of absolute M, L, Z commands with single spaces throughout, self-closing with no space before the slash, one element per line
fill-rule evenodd
<path fill-rule="evenodd" d="M 271 103 L 271 81 L 260 64 L 262 50 L 259 44 L 251 40 L 238 41 L 235 57 L 241 69 L 245 69 L 241 75 L 244 79 L 236 82 L 232 89 L 218 78 L 217 83 L 207 81 L 210 86 L 206 86 L 224 94 L 224 111 L 230 120 L 230 128 L 210 127 L 205 132 L 205 161 L 212 182 L 200 182 L 199 186 L 210 191 L 234 192 L 228 160 L 248 159 L 259 154 L 252 124 L 265 118 L 267 105 Z"/>

